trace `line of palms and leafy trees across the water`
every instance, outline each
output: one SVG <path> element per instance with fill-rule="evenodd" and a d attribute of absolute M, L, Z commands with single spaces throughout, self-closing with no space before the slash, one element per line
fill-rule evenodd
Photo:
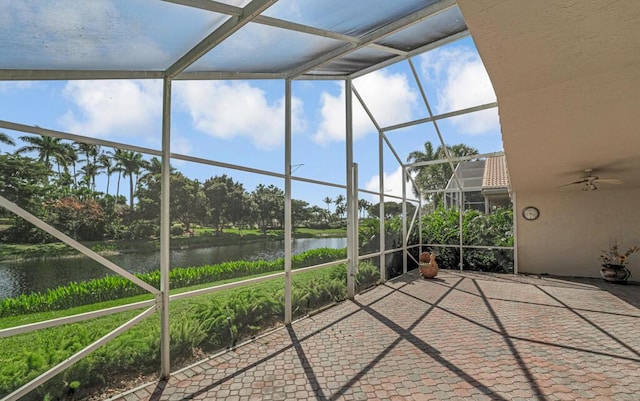
<path fill-rule="evenodd" d="M 157 235 L 162 170 L 158 158 L 146 159 L 130 150 L 48 136 L 28 135 L 19 140 L 22 146 L 18 145 L 15 152 L 0 155 L 0 194 L 79 240 Z M 16 145 L 5 134 L 0 135 L 0 142 Z M 193 232 L 193 224 L 212 227 L 216 232 L 230 226 L 267 230 L 284 224 L 284 192 L 274 185 L 258 185 L 249 192 L 227 175 L 200 182 L 174 168 L 170 174 L 170 216 L 175 233 Z M 98 191 L 96 185 L 100 176 L 106 178 L 104 191 Z M 129 190 L 128 202 L 121 194 L 124 182 Z M 338 195 L 335 204 L 331 212 L 292 200 L 294 225 L 343 225 L 344 196 Z M 366 210 L 368 204 L 359 206 Z M 22 219 L 13 220 L 12 227 L 0 233 L 4 240 L 49 239 Z"/>

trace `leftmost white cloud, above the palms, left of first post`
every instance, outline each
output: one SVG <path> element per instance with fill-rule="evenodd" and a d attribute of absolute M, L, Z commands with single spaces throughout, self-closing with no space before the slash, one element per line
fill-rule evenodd
<path fill-rule="evenodd" d="M 67 131 L 120 138 L 160 134 L 159 81 L 70 81 L 62 93 L 74 105 L 60 118 Z"/>

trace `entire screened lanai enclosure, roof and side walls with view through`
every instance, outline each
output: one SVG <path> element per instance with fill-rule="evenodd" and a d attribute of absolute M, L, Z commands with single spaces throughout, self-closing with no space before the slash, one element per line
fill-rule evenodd
<path fill-rule="evenodd" d="M 2 399 L 167 378 L 424 251 L 517 272 L 455 1 L 0 4 Z"/>

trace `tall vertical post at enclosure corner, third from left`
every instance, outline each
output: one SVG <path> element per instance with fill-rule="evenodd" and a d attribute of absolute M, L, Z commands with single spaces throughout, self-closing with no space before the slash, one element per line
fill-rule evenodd
<path fill-rule="evenodd" d="M 346 164 L 347 164 L 347 296 L 349 299 L 355 297 L 354 274 L 358 263 L 357 254 L 354 250 L 354 238 L 357 232 L 353 224 L 353 92 L 351 78 L 345 81 L 345 107 L 346 107 Z"/>

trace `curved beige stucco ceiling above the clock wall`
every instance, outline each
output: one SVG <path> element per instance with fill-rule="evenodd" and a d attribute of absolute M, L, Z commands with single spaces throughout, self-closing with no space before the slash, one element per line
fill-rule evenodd
<path fill-rule="evenodd" d="M 514 191 L 594 169 L 640 187 L 640 2 L 458 0 L 498 98 Z"/>

